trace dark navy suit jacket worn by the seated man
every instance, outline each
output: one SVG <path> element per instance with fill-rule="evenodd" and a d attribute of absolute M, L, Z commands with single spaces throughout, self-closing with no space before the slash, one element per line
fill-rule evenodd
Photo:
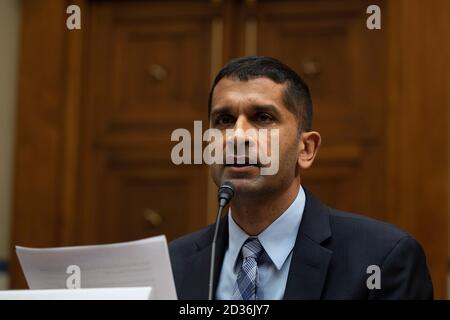
<path fill-rule="evenodd" d="M 432 299 L 421 246 L 387 223 L 329 208 L 305 189 L 284 299 Z M 207 299 L 214 225 L 169 244 L 179 299 Z M 227 217 L 217 240 L 214 292 L 228 245 Z M 367 288 L 378 265 L 381 289 Z"/>

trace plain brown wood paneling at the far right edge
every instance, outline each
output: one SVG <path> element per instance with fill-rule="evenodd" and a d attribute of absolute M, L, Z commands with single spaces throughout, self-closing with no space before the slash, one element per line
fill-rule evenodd
<path fill-rule="evenodd" d="M 450 3 L 390 1 L 387 22 L 385 187 L 389 221 L 423 244 L 435 295 L 444 298 L 448 271 Z"/>

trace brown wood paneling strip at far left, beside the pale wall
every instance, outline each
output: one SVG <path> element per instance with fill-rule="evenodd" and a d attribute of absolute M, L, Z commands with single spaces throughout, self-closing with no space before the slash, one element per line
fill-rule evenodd
<path fill-rule="evenodd" d="M 22 1 L 12 245 L 61 243 L 65 3 Z M 11 248 L 11 281 L 23 287 Z"/>

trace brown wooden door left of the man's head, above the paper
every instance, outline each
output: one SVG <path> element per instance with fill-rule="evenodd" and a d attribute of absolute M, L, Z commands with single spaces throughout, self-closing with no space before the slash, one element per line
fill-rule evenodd
<path fill-rule="evenodd" d="M 199 1 L 92 3 L 77 243 L 206 224 L 207 168 L 174 165 L 170 137 L 207 118 L 213 17 Z"/>

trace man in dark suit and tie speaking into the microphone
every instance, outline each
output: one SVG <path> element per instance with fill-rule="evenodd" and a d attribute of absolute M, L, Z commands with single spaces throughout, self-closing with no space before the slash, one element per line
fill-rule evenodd
<path fill-rule="evenodd" d="M 235 186 L 217 240 L 216 299 L 433 298 L 416 240 L 329 208 L 302 187 L 301 173 L 312 165 L 321 137 L 311 130 L 309 89 L 293 70 L 269 57 L 231 61 L 215 78 L 209 113 L 210 126 L 222 132 L 279 133 L 275 175 L 261 175 L 260 163 L 211 166 L 217 186 Z M 208 226 L 170 243 L 180 299 L 208 297 L 213 232 Z"/>

